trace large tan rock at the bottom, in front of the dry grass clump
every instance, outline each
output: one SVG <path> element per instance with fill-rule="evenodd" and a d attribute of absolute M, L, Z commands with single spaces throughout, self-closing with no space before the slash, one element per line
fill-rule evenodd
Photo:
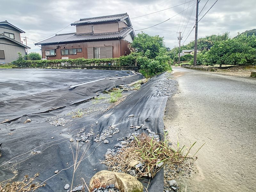
<path fill-rule="evenodd" d="M 122 192 L 143 192 L 143 186 L 140 181 L 130 174 L 111 171 L 97 172 L 90 180 L 90 191 L 94 188 L 114 184 Z"/>

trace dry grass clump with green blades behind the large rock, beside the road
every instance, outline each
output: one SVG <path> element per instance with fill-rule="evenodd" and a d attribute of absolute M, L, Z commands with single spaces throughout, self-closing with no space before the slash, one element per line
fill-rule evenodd
<path fill-rule="evenodd" d="M 135 168 L 136 178 L 153 178 L 162 168 L 157 164 L 167 160 L 178 163 L 183 159 L 180 151 L 169 147 L 167 141 L 156 141 L 142 133 L 115 156 L 107 156 L 102 163 L 106 164 L 111 171 L 129 173 L 132 169 L 131 162 L 140 162 L 142 168 Z"/>

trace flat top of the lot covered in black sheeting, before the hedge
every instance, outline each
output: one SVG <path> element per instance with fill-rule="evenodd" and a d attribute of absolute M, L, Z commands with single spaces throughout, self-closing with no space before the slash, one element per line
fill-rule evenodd
<path fill-rule="evenodd" d="M 117 70 L 0 69 L 0 101 L 63 89 L 105 77 L 127 75 L 126 71 Z"/>

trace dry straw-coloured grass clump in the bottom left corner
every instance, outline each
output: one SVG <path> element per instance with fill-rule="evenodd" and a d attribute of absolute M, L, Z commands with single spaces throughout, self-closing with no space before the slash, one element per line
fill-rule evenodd
<path fill-rule="evenodd" d="M 28 175 L 24 176 L 24 179 L 22 181 L 14 181 L 12 183 L 6 183 L 3 187 L 0 186 L 1 192 L 25 192 L 25 191 L 35 191 L 36 189 L 40 187 L 44 187 L 45 183 L 43 185 L 40 185 L 39 183 L 33 183 L 33 181 L 38 177 L 39 173 L 36 173 L 34 177 L 28 178 Z"/>

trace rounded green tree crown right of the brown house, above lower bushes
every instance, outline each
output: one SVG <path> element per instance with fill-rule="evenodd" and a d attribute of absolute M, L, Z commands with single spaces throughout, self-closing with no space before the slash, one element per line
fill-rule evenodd
<path fill-rule="evenodd" d="M 159 53 L 160 48 L 165 48 L 164 37 L 150 36 L 144 32 L 139 33 L 134 37 L 132 42 L 132 47 L 135 52 L 141 54 L 141 56 L 146 56 L 149 59 L 154 59 Z"/>

